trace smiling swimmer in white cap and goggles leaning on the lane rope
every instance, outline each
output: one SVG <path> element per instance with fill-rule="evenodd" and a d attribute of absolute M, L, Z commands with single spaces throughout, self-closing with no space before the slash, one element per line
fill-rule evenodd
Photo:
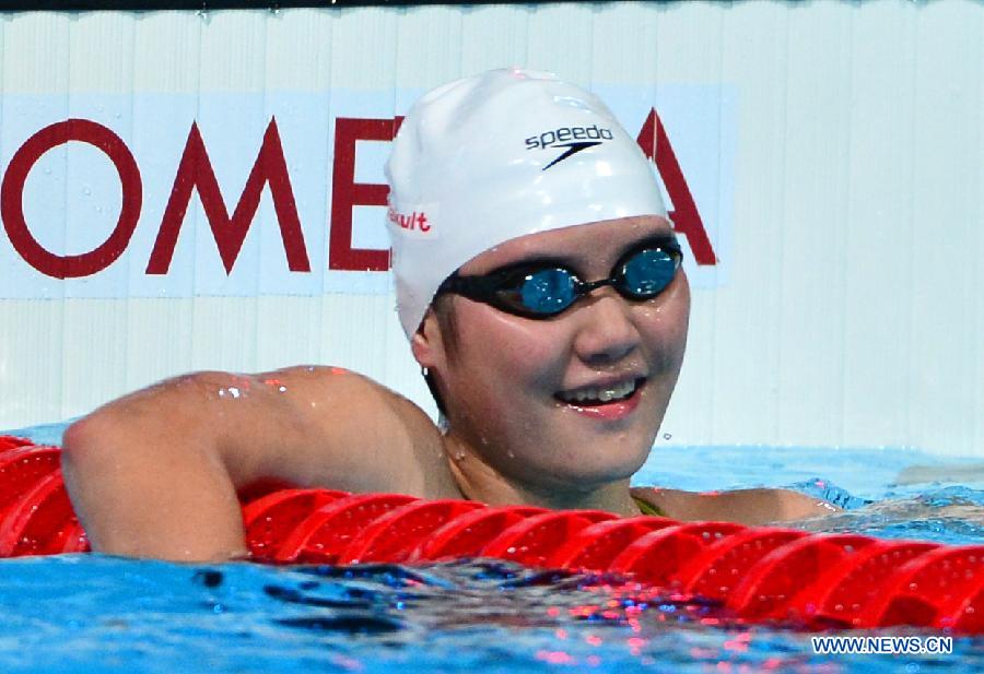
<path fill-rule="evenodd" d="M 634 488 L 677 382 L 690 291 L 652 165 L 605 105 L 495 70 L 424 95 L 387 163 L 397 309 L 441 409 L 355 373 L 197 373 L 66 431 L 95 549 L 246 554 L 237 490 L 349 492 L 764 523 L 785 489 Z"/>

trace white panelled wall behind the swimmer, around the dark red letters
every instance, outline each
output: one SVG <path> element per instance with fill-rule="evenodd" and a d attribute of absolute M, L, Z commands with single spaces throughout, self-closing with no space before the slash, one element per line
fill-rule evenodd
<path fill-rule="evenodd" d="M 621 96 L 617 114 L 654 105 L 694 188 L 718 264 L 691 256 L 690 345 L 660 441 L 984 456 L 980 3 L 20 13 L 0 28 L 0 170 L 37 130 L 84 117 L 143 179 L 130 247 L 90 279 L 38 274 L 0 232 L 0 427 L 187 370 L 296 363 L 363 371 L 433 410 L 385 274 L 325 271 L 332 120 L 391 118 L 431 86 L 519 64 Z M 173 276 L 145 285 L 190 122 L 232 212 L 271 116 L 314 286 L 263 280 L 269 260 L 284 267 L 268 189 L 236 279 L 209 285 L 218 253 L 196 196 Z M 359 144 L 356 180 L 378 181 L 385 145 Z M 51 150 L 27 182 L 25 218 L 60 255 L 104 240 L 121 208 L 90 145 Z M 356 209 L 353 244 L 383 247 L 376 210 Z"/>

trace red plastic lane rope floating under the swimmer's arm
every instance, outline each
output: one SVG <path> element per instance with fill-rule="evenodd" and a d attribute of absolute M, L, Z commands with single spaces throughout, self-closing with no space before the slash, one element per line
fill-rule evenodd
<path fill-rule="evenodd" d="M 59 463 L 57 447 L 0 436 L 0 557 L 89 551 Z M 723 603 L 749 622 L 984 634 L 984 545 L 274 486 L 243 496 L 257 561 L 497 557 L 626 574 L 649 589 Z"/>

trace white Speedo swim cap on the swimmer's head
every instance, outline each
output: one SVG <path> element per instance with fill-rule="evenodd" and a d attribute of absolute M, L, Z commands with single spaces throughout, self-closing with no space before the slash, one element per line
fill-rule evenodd
<path fill-rule="evenodd" d="M 386 163 L 397 311 L 408 338 L 437 287 L 526 234 L 666 216 L 655 170 L 597 96 L 552 73 L 491 70 L 418 100 Z"/>

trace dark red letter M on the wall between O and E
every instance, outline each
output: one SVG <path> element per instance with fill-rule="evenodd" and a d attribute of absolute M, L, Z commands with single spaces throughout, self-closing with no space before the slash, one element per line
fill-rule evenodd
<path fill-rule="evenodd" d="M 174 257 L 174 248 L 177 244 L 178 233 L 188 204 L 191 202 L 191 192 L 198 189 L 198 198 L 201 208 L 212 228 L 212 236 L 219 247 L 219 256 L 225 267 L 225 273 L 232 272 L 232 268 L 246 240 L 246 233 L 256 211 L 263 185 L 270 187 L 270 197 L 273 200 L 273 210 L 280 225 L 280 236 L 283 239 L 283 249 L 286 252 L 288 267 L 294 272 L 309 272 L 311 262 L 307 259 L 307 248 L 304 245 L 304 233 L 301 230 L 301 220 L 297 217 L 297 205 L 294 201 L 294 191 L 291 188 L 291 179 L 288 176 L 286 161 L 283 157 L 283 146 L 280 142 L 280 132 L 277 129 L 277 119 L 271 118 L 270 125 L 263 133 L 263 142 L 259 154 L 239 201 L 233 211 L 232 217 L 225 208 L 222 191 L 219 189 L 219 180 L 209 159 L 198 123 L 191 123 L 188 141 L 185 143 L 185 152 L 178 165 L 177 176 L 167 206 L 164 209 L 164 217 L 161 221 L 161 230 L 154 249 L 151 251 L 147 265 L 148 274 L 166 274 Z"/>

